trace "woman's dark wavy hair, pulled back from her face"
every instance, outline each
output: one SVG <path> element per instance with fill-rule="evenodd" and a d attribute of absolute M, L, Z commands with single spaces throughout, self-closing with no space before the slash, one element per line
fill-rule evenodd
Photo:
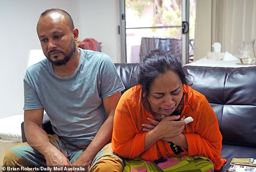
<path fill-rule="evenodd" d="M 180 58 L 160 49 L 149 52 L 149 54 L 141 60 L 136 70 L 137 83 L 141 85 L 142 88 L 141 101 L 145 109 L 149 112 L 152 112 L 147 100 L 149 89 L 157 77 L 168 71 L 177 73 L 183 85 L 192 85 L 189 84 L 189 76 L 191 75 L 183 68 L 183 63 Z M 185 94 L 187 94 L 187 92 L 185 92 Z M 187 99 L 185 99 L 185 102 L 187 102 Z"/>

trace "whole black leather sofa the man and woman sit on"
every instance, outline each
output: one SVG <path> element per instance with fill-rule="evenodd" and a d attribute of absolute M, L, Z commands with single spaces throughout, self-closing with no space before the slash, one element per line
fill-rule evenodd
<path fill-rule="evenodd" d="M 134 72 L 138 64 L 115 64 L 126 90 L 136 85 Z M 192 88 L 206 96 L 222 133 L 222 158 L 256 158 L 256 66 L 241 68 L 184 66 L 193 75 Z M 124 91 L 126 91 L 124 90 Z M 123 92 L 124 92 L 123 91 Z M 122 93 L 123 93 L 122 92 Z M 26 141 L 23 124 L 22 139 Z M 50 122 L 43 128 L 52 134 Z"/>

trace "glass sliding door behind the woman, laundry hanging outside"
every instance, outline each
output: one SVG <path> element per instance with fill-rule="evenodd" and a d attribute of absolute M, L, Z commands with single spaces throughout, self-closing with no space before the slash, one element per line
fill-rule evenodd
<path fill-rule="evenodd" d="M 195 27 L 195 1 L 191 0 L 191 22 L 189 30 L 189 39 L 193 40 Z M 191 2 L 190 1 L 190 2 Z M 185 2 L 185 5 L 184 3 Z M 144 48 L 148 41 L 152 41 L 150 48 L 161 48 L 166 51 L 176 51 L 182 54 L 182 23 L 183 11 L 182 8 L 189 5 L 188 0 L 122 0 L 122 25 L 124 40 L 123 45 L 125 50 L 122 52 L 126 54 L 126 62 L 138 62 L 147 48 Z M 123 8 L 123 10 L 122 10 Z M 186 12 L 186 11 L 185 11 Z M 123 28 L 123 29 L 122 29 Z M 146 38 L 149 38 L 146 40 Z M 153 42 L 155 44 L 153 45 Z M 180 51 L 170 50 L 170 44 L 178 45 Z M 187 41 L 193 43 L 193 41 Z M 190 44 L 192 45 L 192 44 Z M 171 46 L 173 48 L 173 46 Z M 190 46 L 190 51 L 193 46 Z M 189 49 L 188 49 L 189 51 Z M 191 54 L 190 54 L 191 56 Z M 192 59 L 192 58 L 191 58 Z"/>

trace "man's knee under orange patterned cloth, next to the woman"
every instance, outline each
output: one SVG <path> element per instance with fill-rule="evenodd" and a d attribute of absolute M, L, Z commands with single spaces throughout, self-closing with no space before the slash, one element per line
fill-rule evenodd
<path fill-rule="evenodd" d="M 114 157 L 104 158 L 97 162 L 90 172 L 122 172 L 123 164 L 119 159 Z"/>

